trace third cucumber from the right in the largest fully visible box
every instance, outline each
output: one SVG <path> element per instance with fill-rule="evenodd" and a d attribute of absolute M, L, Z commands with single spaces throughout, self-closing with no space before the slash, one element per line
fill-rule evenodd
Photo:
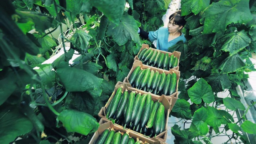
<path fill-rule="evenodd" d="M 143 110 L 143 114 L 142 117 L 140 118 L 140 131 L 142 130 L 142 128 L 144 128 L 148 122 L 149 119 L 149 115 L 150 115 L 150 108 L 151 108 L 151 94 L 147 94 L 146 97 L 146 102 L 144 105 L 144 110 Z"/>

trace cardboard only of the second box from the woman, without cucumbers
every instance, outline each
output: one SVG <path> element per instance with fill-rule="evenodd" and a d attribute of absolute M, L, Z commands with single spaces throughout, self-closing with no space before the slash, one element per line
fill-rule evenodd
<path fill-rule="evenodd" d="M 170 109 L 172 110 L 172 107 L 174 106 L 174 104 L 176 103 L 176 101 L 177 101 L 177 99 L 178 99 L 178 83 L 179 83 L 179 79 L 180 79 L 180 71 L 178 71 L 178 70 L 173 70 L 173 69 L 171 69 L 171 70 L 169 70 L 169 71 L 167 71 L 167 70 L 162 70 L 162 69 L 159 69 L 159 68 L 155 68 L 155 67 L 152 67 L 152 66 L 148 66 L 148 65 L 142 64 L 141 61 L 135 60 L 134 63 L 133 63 L 133 65 L 132 65 L 132 68 L 131 68 L 131 70 L 130 70 L 130 72 L 129 72 L 129 74 L 128 74 L 128 76 L 127 76 L 126 78 L 124 78 L 124 81 L 123 81 L 123 82 L 126 82 L 126 83 L 130 84 L 130 82 L 129 82 L 128 79 L 129 79 L 130 75 L 132 74 L 132 72 L 134 71 L 134 69 L 135 69 L 137 66 L 140 66 L 140 68 L 142 68 L 142 69 L 150 68 L 151 70 L 154 70 L 155 72 L 156 72 L 156 70 L 157 70 L 160 74 L 162 74 L 163 72 L 166 73 L 166 74 L 169 74 L 169 73 L 174 72 L 174 73 L 176 74 L 176 76 L 177 76 L 177 85 L 176 85 L 176 90 L 175 90 L 175 92 L 174 92 L 173 94 L 169 95 L 169 96 L 163 95 L 163 96 L 166 96 L 167 99 L 168 99 L 168 97 L 172 98 L 172 104 L 171 104 L 171 108 L 170 108 Z M 143 91 L 143 90 L 142 90 L 142 91 Z M 152 95 L 158 96 L 158 95 L 156 95 L 156 94 L 152 94 Z"/>

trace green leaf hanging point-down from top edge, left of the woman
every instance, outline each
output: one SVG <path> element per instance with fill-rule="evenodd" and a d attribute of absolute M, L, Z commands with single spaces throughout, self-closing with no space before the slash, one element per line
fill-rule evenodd
<path fill-rule="evenodd" d="M 125 0 L 91 0 L 92 5 L 103 12 L 109 20 L 115 24 L 120 24 L 124 13 Z"/>

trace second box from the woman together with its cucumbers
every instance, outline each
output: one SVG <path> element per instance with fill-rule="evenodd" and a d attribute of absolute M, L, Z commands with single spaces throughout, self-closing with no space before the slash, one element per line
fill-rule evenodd
<path fill-rule="evenodd" d="M 128 76 L 123 82 L 158 96 L 172 97 L 172 106 L 174 106 L 178 98 L 179 78 L 180 71 L 178 70 L 162 70 L 135 60 Z"/>

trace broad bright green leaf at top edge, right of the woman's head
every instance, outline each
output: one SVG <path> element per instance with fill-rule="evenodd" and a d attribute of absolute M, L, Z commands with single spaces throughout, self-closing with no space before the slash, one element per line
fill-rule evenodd
<path fill-rule="evenodd" d="M 203 34 L 225 31 L 228 24 L 243 24 L 252 20 L 248 3 L 249 0 L 220 0 L 212 3 L 203 13 Z"/>

